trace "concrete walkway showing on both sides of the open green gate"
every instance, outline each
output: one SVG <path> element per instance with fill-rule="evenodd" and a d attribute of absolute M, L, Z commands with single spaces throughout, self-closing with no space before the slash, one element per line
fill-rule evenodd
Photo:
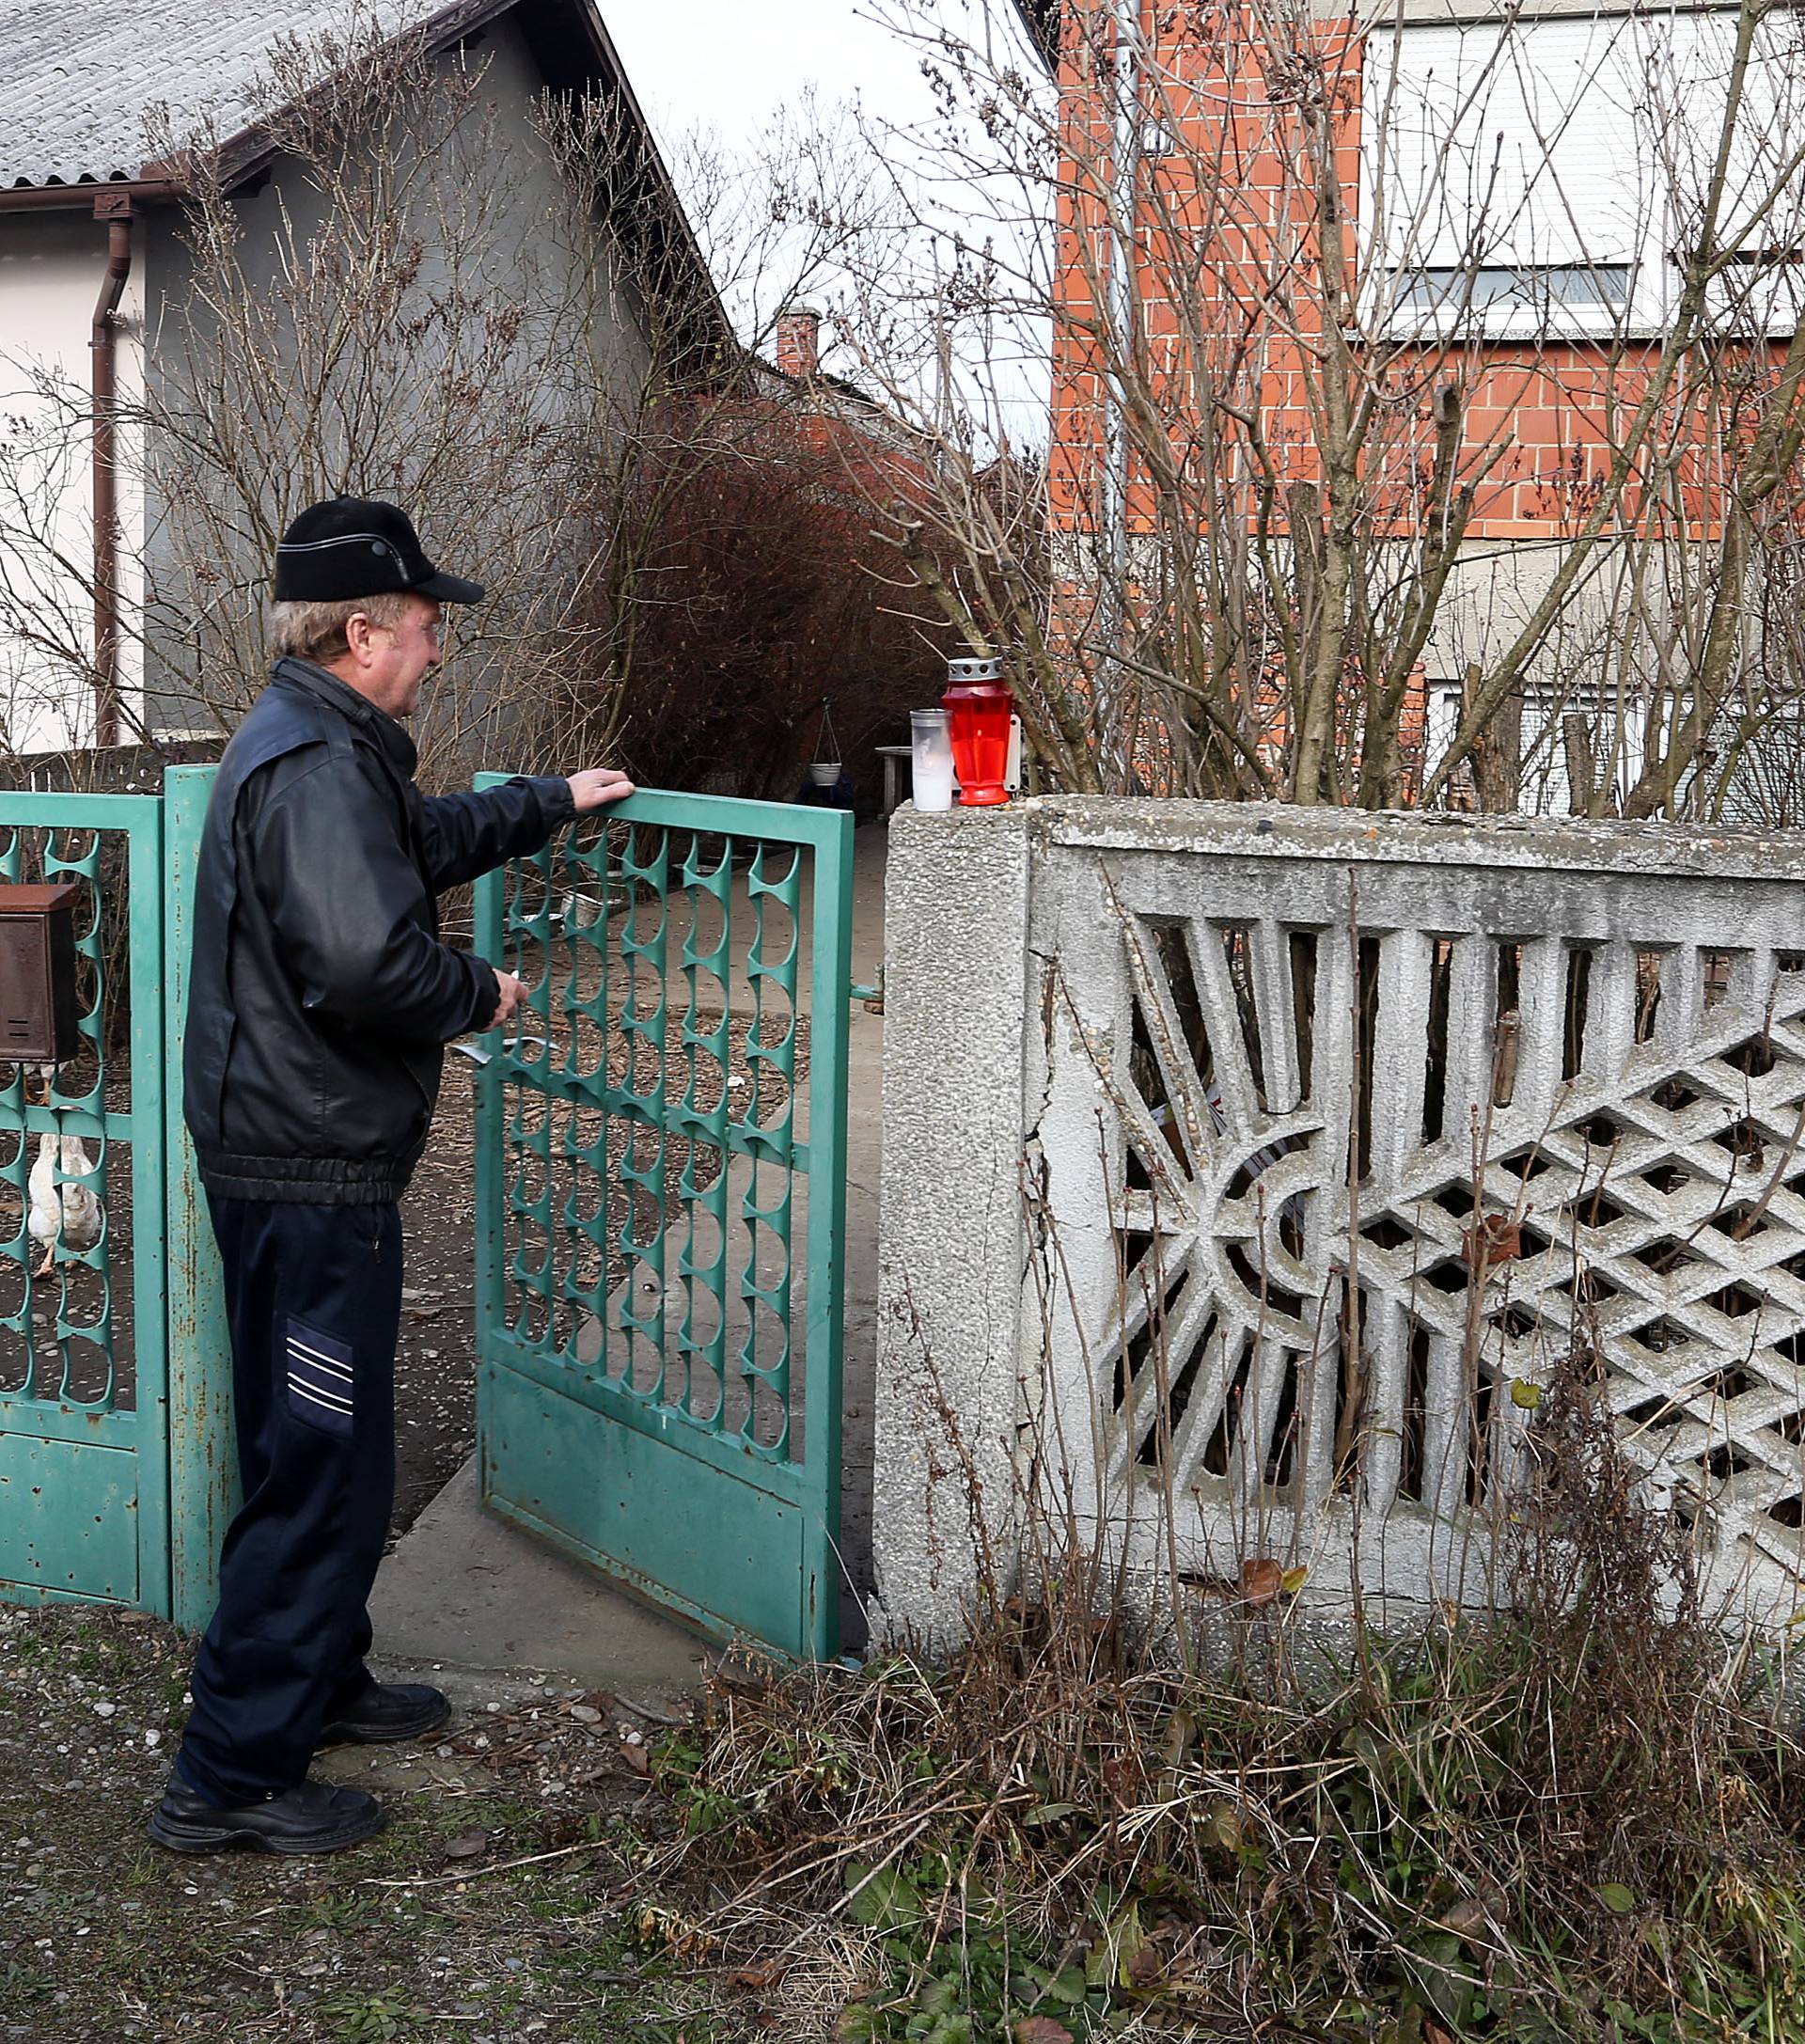
<path fill-rule="evenodd" d="M 887 834 L 854 840 L 852 979 L 883 963 Z M 846 1349 L 840 1547 L 852 1584 L 871 1580 L 871 1453 L 877 1367 L 877 1194 L 883 1020 L 852 1004 L 846 1069 Z M 370 1600 L 386 1672 L 489 1670 L 562 1676 L 660 1703 L 693 1686 L 709 1658 L 689 1629 L 609 1588 L 476 1502 L 474 1457 L 397 1543 Z M 865 1641 L 857 1590 L 840 1600 L 846 1650 Z"/>

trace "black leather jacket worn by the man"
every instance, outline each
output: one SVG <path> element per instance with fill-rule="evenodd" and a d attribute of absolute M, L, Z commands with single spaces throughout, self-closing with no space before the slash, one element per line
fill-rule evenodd
<path fill-rule="evenodd" d="M 184 1112 L 209 1192 L 366 1206 L 407 1190 L 444 1044 L 497 1006 L 435 895 L 536 852 L 568 781 L 421 795 L 413 740 L 278 660 L 219 762 L 194 885 Z"/>

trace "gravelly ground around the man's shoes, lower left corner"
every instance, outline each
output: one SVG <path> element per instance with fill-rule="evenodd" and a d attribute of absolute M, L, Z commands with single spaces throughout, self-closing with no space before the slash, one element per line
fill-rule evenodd
<path fill-rule="evenodd" d="M 143 1833 L 188 1647 L 135 1615 L 0 1607 L 0 2040 L 724 2044 L 771 2011 L 662 1899 L 666 1723 L 605 1692 L 462 1686 L 448 1733 L 339 1748 L 388 1829 L 319 1860 Z"/>

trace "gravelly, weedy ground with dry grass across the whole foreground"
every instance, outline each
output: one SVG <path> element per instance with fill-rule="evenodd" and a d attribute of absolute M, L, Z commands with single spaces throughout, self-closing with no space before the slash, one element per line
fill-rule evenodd
<path fill-rule="evenodd" d="M 188 1645 L 0 1609 L 0 2040 L 1797 2044 L 1778 1686 L 1582 1361 L 1531 1464 L 1484 1623 L 1335 1658 L 1278 1594 L 1184 1666 L 1071 1549 L 944 1664 L 718 1678 L 650 1784 L 478 1713 L 329 1860 L 155 1850 Z"/>

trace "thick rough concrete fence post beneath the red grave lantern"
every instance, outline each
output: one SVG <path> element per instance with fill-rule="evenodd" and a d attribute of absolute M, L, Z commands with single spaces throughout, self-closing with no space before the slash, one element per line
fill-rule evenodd
<path fill-rule="evenodd" d="M 957 1637 L 985 1551 L 1014 1566 L 1030 830 L 1030 803 L 889 826 L 875 1641 Z"/>

